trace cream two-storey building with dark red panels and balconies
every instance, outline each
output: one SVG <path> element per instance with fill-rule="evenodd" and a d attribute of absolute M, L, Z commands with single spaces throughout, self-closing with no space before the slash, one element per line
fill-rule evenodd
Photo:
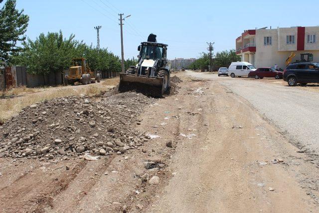
<path fill-rule="evenodd" d="M 296 54 L 293 61 L 305 52 L 313 53 L 314 61 L 319 61 L 318 39 L 319 26 L 249 29 L 236 38 L 236 54 L 256 67 L 278 64 L 284 69 L 292 52 Z"/>

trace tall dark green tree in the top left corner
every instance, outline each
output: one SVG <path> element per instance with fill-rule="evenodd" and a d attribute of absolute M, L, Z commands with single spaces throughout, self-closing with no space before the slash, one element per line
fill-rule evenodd
<path fill-rule="evenodd" d="M 16 0 L 7 0 L 0 9 L 0 60 L 6 62 L 10 55 L 21 50 L 16 43 L 25 40 L 23 34 L 29 21 L 29 16 L 23 14 L 23 9 L 19 11 L 15 9 L 15 5 Z"/>

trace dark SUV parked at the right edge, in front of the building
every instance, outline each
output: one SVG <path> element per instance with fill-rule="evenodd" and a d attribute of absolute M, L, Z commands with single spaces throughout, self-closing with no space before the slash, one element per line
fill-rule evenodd
<path fill-rule="evenodd" d="M 319 63 L 300 62 L 289 64 L 284 70 L 284 81 L 289 86 L 296 86 L 297 83 L 319 83 Z"/>

